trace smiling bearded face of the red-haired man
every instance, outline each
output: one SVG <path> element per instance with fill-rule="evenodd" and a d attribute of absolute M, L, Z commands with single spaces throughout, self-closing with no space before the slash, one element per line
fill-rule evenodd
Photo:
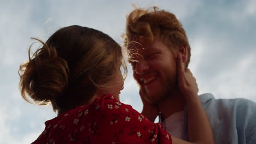
<path fill-rule="evenodd" d="M 157 104 L 170 97 L 170 93 L 177 88 L 175 53 L 159 39 L 129 50 L 133 57 L 133 61 L 130 61 L 133 77 L 147 102 Z"/>

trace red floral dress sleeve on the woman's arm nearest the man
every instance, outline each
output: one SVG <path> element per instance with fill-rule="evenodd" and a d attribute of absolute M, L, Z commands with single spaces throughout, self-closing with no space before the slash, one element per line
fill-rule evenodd
<path fill-rule="evenodd" d="M 160 123 L 148 121 L 141 113 L 116 100 L 104 96 L 94 104 L 97 117 L 90 129 L 94 143 L 172 143 L 171 136 Z M 95 131 L 96 130 L 96 131 Z M 101 138 L 99 139 L 100 136 Z"/>

